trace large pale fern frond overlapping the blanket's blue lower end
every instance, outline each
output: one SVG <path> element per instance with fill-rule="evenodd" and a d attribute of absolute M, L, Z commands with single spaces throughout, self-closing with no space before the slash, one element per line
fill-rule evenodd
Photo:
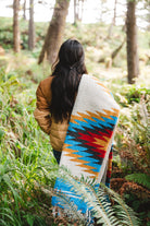
<path fill-rule="evenodd" d="M 97 195 L 95 180 L 88 180 L 87 178 L 84 180 L 84 177 L 78 179 L 74 178 L 72 175 L 68 176 L 68 174 L 66 174 L 63 179 L 65 182 L 71 183 L 73 186 L 72 190 L 79 194 L 79 197 L 87 203 L 89 210 L 91 210 L 93 216 L 98 219 L 98 223 L 105 226 L 118 225 L 105 193 L 101 192 L 101 199 Z"/>

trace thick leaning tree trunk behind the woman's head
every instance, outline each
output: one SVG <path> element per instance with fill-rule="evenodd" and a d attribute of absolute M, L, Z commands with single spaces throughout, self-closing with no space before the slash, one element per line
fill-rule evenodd
<path fill-rule="evenodd" d="M 45 55 L 51 64 L 54 62 L 62 43 L 68 5 L 70 0 L 55 1 L 52 20 L 45 38 L 38 63 L 43 61 Z"/>

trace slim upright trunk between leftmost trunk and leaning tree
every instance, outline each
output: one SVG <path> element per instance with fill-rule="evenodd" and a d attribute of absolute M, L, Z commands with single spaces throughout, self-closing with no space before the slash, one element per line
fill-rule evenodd
<path fill-rule="evenodd" d="M 35 47 L 34 0 L 29 0 L 28 49 Z"/>

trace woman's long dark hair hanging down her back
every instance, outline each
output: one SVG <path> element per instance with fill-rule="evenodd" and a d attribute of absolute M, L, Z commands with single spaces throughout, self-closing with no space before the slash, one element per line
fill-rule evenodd
<path fill-rule="evenodd" d="M 51 114 L 57 122 L 70 120 L 80 78 L 87 73 L 84 48 L 78 40 L 62 44 L 52 71 Z"/>

